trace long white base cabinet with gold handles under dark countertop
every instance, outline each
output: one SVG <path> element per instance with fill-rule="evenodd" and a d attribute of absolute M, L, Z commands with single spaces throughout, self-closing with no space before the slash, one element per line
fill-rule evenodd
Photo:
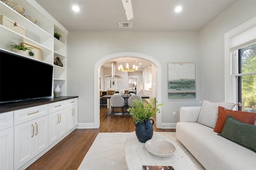
<path fill-rule="evenodd" d="M 76 128 L 78 98 L 66 99 L 0 113 L 0 170 L 26 169 Z"/>

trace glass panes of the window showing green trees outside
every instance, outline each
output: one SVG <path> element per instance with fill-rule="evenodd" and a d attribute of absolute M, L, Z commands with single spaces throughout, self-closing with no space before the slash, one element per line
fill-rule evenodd
<path fill-rule="evenodd" d="M 238 110 L 252 111 L 256 108 L 256 43 L 238 50 L 237 63 L 238 73 L 234 76 L 238 82 L 238 102 L 242 104 Z"/>

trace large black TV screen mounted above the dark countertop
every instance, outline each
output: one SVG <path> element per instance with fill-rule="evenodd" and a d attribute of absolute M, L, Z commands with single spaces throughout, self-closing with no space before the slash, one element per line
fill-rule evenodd
<path fill-rule="evenodd" d="M 0 50 L 0 103 L 52 96 L 53 66 Z"/>

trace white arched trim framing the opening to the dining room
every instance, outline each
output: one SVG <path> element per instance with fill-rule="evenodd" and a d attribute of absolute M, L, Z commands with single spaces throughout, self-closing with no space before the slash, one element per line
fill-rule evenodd
<path fill-rule="evenodd" d="M 156 65 L 157 69 L 157 101 L 158 103 L 162 103 L 162 91 L 161 91 L 161 72 L 162 68 L 160 63 L 149 55 L 145 55 L 142 53 L 135 52 L 122 52 L 122 53 L 114 53 L 111 55 L 107 55 L 102 57 L 99 61 L 94 65 L 94 128 L 100 127 L 100 102 L 98 96 L 100 96 L 100 66 L 104 64 L 106 61 L 110 59 L 116 59 L 120 57 L 135 57 L 140 59 L 146 59 Z M 160 113 L 156 114 L 156 127 L 161 128 L 162 125 L 162 116 L 161 116 L 161 107 L 159 107 Z"/>

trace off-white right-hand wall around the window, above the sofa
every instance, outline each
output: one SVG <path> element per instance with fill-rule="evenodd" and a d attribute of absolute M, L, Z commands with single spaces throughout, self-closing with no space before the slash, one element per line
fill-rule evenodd
<path fill-rule="evenodd" d="M 198 32 L 201 99 L 224 101 L 224 34 L 255 16 L 256 1 L 237 1 Z"/>

